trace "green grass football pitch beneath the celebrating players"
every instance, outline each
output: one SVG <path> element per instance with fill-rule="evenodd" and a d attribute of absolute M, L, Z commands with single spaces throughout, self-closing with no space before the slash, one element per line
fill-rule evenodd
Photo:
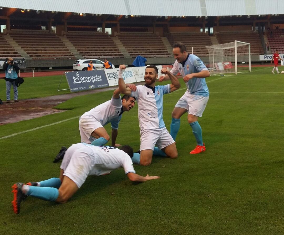
<path fill-rule="evenodd" d="M 135 166 L 138 174 L 159 180 L 133 184 L 123 169 L 89 176 L 62 205 L 28 197 L 15 215 L 11 186 L 58 177 L 60 164 L 52 161 L 61 146 L 80 142 L 79 118 L 0 139 L 0 234 L 283 234 L 284 75 L 271 70 L 206 78 L 210 98 L 199 118 L 204 153 L 189 154 L 196 143 L 184 115 L 178 159 L 153 157 L 150 166 Z M 25 78 L 19 98 L 68 93 L 57 91 L 59 80 Z M 179 90 L 164 95 L 168 130 L 185 92 L 180 82 Z M 74 97 L 57 106 L 68 110 L 63 113 L 0 126 L 0 138 L 78 117 L 111 95 Z M 110 125 L 106 129 L 110 133 Z M 139 149 L 137 105 L 123 114 L 117 143 Z"/>

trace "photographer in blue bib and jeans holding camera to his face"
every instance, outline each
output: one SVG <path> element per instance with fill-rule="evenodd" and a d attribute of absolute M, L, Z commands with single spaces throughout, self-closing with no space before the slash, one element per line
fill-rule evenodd
<path fill-rule="evenodd" d="M 7 96 L 6 102 L 10 103 L 10 91 L 12 85 L 14 88 L 14 102 L 19 102 L 18 88 L 16 82 L 20 68 L 16 63 L 14 63 L 13 58 L 9 57 L 7 62 L 3 64 L 3 70 L 5 71 L 5 81 L 6 81 L 6 96 Z"/>

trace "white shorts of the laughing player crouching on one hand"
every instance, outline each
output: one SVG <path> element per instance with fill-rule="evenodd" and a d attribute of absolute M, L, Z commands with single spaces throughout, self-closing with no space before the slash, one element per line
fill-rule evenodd
<path fill-rule="evenodd" d="M 81 136 L 81 143 L 91 144 L 94 138 L 91 136 L 92 132 L 99 127 L 103 127 L 101 122 L 98 122 L 95 118 L 80 117 L 79 130 Z"/>

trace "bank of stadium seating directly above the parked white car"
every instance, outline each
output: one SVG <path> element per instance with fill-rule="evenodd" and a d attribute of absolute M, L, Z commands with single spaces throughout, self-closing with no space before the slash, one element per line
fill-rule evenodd
<path fill-rule="evenodd" d="M 108 34 L 68 32 L 66 38 L 85 59 L 124 57 Z"/>

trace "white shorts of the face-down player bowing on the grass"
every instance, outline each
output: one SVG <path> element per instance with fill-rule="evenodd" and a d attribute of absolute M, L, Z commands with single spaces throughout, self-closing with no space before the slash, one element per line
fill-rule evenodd
<path fill-rule="evenodd" d="M 65 152 L 60 169 L 64 170 L 63 175 L 70 178 L 78 188 L 94 168 L 93 155 L 94 150 L 81 143 L 72 144 Z"/>

